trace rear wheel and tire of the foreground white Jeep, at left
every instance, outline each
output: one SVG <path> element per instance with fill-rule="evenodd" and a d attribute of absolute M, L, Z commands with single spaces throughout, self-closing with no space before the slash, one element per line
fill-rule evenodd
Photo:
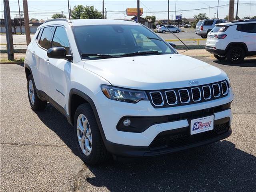
<path fill-rule="evenodd" d="M 33 78 L 31 75 L 28 76 L 28 100 L 32 110 L 43 110 L 47 106 L 47 101 L 42 101 L 38 98 L 36 94 L 36 86 L 34 84 Z"/>

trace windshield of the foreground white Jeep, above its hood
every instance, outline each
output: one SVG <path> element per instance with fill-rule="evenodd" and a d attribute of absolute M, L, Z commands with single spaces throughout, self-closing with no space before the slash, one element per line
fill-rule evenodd
<path fill-rule="evenodd" d="M 72 30 L 78 51 L 84 59 L 130 56 L 136 52 L 147 52 L 147 54 L 176 53 L 169 44 L 144 26 L 91 25 L 75 26 Z M 106 55 L 108 56 L 106 57 Z"/>

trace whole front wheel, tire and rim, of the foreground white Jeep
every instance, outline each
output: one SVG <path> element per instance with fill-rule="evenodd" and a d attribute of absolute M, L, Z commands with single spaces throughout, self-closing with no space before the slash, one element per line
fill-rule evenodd
<path fill-rule="evenodd" d="M 78 106 L 74 115 L 74 140 L 80 158 L 88 164 L 106 162 L 110 155 L 106 150 L 98 124 L 90 104 Z"/>

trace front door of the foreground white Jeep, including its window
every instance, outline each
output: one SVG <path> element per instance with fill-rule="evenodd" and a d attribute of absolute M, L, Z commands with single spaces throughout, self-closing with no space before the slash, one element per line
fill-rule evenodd
<path fill-rule="evenodd" d="M 51 47 L 64 47 L 67 55 L 72 54 L 64 26 L 56 26 Z M 70 87 L 70 70 L 72 63 L 67 59 L 54 59 L 48 58 L 47 56 L 46 59 L 49 60 L 49 82 L 51 83 L 48 95 L 50 99 L 54 100 L 54 102 L 66 110 L 65 104 L 66 98 L 68 98 L 68 88 Z M 55 104 L 54 102 L 53 104 Z M 66 111 L 64 111 L 64 113 L 65 112 Z"/>

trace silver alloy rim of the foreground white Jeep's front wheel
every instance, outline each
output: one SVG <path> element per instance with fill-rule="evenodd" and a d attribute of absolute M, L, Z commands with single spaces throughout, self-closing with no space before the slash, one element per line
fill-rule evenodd
<path fill-rule="evenodd" d="M 76 133 L 82 152 L 89 156 L 92 152 L 92 132 L 88 119 L 84 114 L 80 114 L 77 118 Z"/>

